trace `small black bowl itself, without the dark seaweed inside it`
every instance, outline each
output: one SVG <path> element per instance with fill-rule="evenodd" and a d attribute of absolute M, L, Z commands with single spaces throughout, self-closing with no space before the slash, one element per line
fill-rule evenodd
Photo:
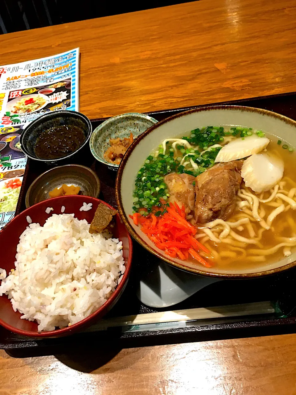
<path fill-rule="evenodd" d="M 77 150 L 65 156 L 61 156 L 60 158 L 54 158 L 54 159 L 38 158 L 35 154 L 35 149 L 34 149 L 37 138 L 41 135 L 41 133 L 44 130 L 60 125 L 79 126 L 82 129 L 82 132 L 84 133 L 85 136 L 84 142 Z M 54 111 L 52 113 L 42 115 L 41 117 L 30 123 L 30 125 L 24 130 L 24 132 L 22 132 L 20 137 L 20 142 L 21 142 L 22 151 L 29 158 L 34 160 L 39 160 L 40 162 L 49 165 L 57 164 L 57 163 L 60 164 L 62 162 L 65 162 L 65 160 L 68 160 L 70 157 L 76 155 L 77 152 L 79 152 L 88 143 L 91 134 L 92 134 L 92 124 L 90 123 L 90 120 L 85 115 L 81 113 L 77 113 L 76 111 Z"/>

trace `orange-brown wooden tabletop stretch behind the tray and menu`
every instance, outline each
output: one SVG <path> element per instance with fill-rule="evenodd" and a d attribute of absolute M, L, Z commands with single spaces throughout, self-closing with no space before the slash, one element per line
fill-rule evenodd
<path fill-rule="evenodd" d="M 1 36 L 1 64 L 81 49 L 91 119 L 291 92 L 296 0 L 201 0 Z"/>

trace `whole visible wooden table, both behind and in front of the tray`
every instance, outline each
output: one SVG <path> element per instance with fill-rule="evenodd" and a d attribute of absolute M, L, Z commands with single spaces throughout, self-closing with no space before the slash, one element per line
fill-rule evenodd
<path fill-rule="evenodd" d="M 80 107 L 94 119 L 294 91 L 295 27 L 296 0 L 201 0 L 7 34 L 0 63 L 79 45 Z M 111 354 L 1 351 L 0 395 L 296 393 L 296 335 Z"/>

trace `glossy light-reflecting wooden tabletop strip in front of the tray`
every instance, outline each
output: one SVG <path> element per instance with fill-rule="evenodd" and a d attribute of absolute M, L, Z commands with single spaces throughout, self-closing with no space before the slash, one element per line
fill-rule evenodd
<path fill-rule="evenodd" d="M 109 357 L 109 358 L 108 358 Z M 11 358 L 0 395 L 292 395 L 296 335 Z"/>

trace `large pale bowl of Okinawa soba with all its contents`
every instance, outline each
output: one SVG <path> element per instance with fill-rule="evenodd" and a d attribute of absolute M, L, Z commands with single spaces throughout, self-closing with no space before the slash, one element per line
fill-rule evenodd
<path fill-rule="evenodd" d="M 127 150 L 116 179 L 133 237 L 170 265 L 250 278 L 296 265 L 296 121 L 212 106 L 169 117 Z"/>

